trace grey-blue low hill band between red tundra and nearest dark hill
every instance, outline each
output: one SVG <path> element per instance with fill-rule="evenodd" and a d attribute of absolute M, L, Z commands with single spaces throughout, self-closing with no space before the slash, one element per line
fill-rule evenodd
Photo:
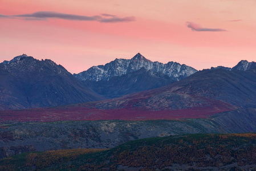
<path fill-rule="evenodd" d="M 47 117 L 47 113 L 44 116 Z M 42 117 L 43 119 L 45 118 Z M 2 124 L 0 125 L 0 158 L 51 149 L 113 148 L 128 141 L 149 137 L 238 132 L 256 132 L 256 109 L 218 113 L 208 119 Z"/>

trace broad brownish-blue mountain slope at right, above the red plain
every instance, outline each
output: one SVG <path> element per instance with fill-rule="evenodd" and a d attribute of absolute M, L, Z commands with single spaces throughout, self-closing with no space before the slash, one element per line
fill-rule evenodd
<path fill-rule="evenodd" d="M 256 70 L 204 70 L 165 87 L 94 103 L 98 109 L 175 110 L 256 107 Z"/>

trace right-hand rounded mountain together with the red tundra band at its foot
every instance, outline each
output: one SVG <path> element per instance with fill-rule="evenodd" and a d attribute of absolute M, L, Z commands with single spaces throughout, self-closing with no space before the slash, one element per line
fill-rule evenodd
<path fill-rule="evenodd" d="M 0 111 L 0 115 L 11 122 L 207 118 L 220 112 L 256 108 L 255 99 L 256 70 L 218 68 L 198 71 L 167 86 L 114 99 L 48 109 Z"/>

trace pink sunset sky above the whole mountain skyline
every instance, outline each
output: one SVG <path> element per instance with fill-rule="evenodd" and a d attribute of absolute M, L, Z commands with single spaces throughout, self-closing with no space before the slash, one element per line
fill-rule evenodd
<path fill-rule="evenodd" d="M 0 0 L 0 62 L 27 54 L 78 73 L 140 52 L 197 70 L 233 67 L 256 59 L 255 7 L 254 0 Z"/>

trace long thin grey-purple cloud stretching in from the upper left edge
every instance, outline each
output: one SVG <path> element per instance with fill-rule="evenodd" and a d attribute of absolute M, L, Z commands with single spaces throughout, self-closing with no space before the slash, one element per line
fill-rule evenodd
<path fill-rule="evenodd" d="M 103 23 L 135 21 L 135 17 L 120 18 L 120 17 L 117 17 L 116 15 L 111 15 L 111 14 L 85 16 L 85 15 L 57 13 L 54 11 L 38 11 L 38 12 L 32 13 L 32 14 L 20 14 L 20 15 L 2 15 L 2 14 L 0 14 L 0 18 L 21 18 L 21 19 L 25 19 L 25 20 L 45 20 L 45 21 L 50 18 L 55 18 L 55 19 L 66 19 L 66 20 L 72 20 L 72 21 L 97 21 L 97 22 L 103 22 Z"/>

